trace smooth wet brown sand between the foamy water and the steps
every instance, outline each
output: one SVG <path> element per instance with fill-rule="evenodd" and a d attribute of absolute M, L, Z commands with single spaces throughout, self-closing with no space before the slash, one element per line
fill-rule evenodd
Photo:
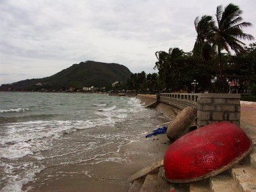
<path fill-rule="evenodd" d="M 127 179 L 141 168 L 163 159 L 169 146 L 170 141 L 166 134 L 141 138 L 140 141 L 134 141 L 120 148 L 120 154 L 124 154 L 130 160 L 129 163 L 102 162 L 93 165 L 82 163 L 79 166 L 76 164 L 55 167 L 52 169 L 55 169 L 56 173 L 72 172 L 72 177 L 63 175 L 61 179 L 51 179 L 48 184 L 39 188 L 35 180 L 32 184 L 35 188 L 29 191 L 128 191 Z M 81 172 L 81 170 L 90 170 L 90 166 L 91 169 L 93 166 L 93 172 L 97 173 L 98 179 Z M 40 174 L 41 179 L 47 179 L 48 175 L 44 175 L 44 170 Z M 28 185 L 24 186 L 24 189 L 28 189 Z"/>

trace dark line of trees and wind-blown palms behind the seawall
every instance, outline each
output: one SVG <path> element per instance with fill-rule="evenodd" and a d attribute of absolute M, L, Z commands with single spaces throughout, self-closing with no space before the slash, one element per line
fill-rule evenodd
<path fill-rule="evenodd" d="M 190 52 L 178 47 L 156 52 L 157 74 L 132 74 L 127 89 L 137 92 L 247 93 L 256 84 L 256 43 L 243 28 L 242 10 L 236 4 L 218 6 L 216 20 L 196 17 L 195 45 Z M 230 84 L 228 84 L 228 82 Z M 231 86 L 230 86 L 231 85 Z M 195 90 L 194 90 L 195 89 Z"/>

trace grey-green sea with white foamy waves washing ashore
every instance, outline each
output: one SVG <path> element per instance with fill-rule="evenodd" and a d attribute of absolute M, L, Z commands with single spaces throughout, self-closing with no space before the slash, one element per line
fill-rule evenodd
<path fill-rule="evenodd" d="M 59 166 L 129 163 L 120 148 L 165 120 L 134 97 L 0 92 L 0 191 L 33 191 L 70 174 L 52 171 Z"/>

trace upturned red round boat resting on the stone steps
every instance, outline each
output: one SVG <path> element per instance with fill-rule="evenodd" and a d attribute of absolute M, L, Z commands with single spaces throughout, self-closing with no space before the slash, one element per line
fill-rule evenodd
<path fill-rule="evenodd" d="M 228 170 L 252 151 L 252 140 L 235 124 L 219 122 L 176 140 L 164 156 L 165 177 L 186 183 Z"/>

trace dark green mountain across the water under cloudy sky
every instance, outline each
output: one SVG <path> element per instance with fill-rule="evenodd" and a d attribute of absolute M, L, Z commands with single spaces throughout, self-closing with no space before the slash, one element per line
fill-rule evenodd
<path fill-rule="evenodd" d="M 67 88 L 108 87 L 115 81 L 124 84 L 132 72 L 117 63 L 85 61 L 74 64 L 57 74 L 41 79 L 27 79 L 16 83 L 2 84 L 0 91 L 65 90 Z"/>

